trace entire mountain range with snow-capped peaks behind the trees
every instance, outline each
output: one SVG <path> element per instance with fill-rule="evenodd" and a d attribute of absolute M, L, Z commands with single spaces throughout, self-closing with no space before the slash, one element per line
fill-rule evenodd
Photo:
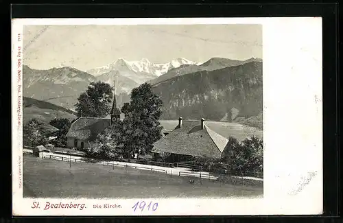
<path fill-rule="evenodd" d="M 119 106 L 129 101 L 134 87 L 149 82 L 163 99 L 163 119 L 182 116 L 242 121 L 259 118 L 262 111 L 262 60 L 259 58 L 211 58 L 204 63 L 177 58 L 165 64 L 154 64 L 145 58 L 140 61 L 119 58 L 86 72 L 73 67 L 37 70 L 23 66 L 25 97 L 71 110 L 80 93 L 93 81 L 111 85 L 116 82 Z"/>

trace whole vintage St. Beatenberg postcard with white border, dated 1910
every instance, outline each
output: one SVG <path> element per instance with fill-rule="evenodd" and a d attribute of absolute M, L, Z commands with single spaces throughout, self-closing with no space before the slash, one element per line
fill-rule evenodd
<path fill-rule="evenodd" d="M 322 19 L 12 20 L 12 215 L 322 213 Z"/>

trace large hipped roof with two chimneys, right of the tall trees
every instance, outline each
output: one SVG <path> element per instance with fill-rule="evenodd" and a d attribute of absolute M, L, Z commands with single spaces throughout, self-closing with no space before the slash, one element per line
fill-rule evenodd
<path fill-rule="evenodd" d="M 191 156 L 220 158 L 228 139 L 200 121 L 182 121 L 182 126 L 156 141 L 152 152 L 169 152 Z"/>

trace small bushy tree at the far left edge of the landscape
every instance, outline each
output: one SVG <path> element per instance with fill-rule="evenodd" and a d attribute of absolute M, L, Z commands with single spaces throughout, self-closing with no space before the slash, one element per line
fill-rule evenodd
<path fill-rule="evenodd" d="M 45 137 L 38 128 L 38 121 L 31 119 L 23 126 L 23 144 L 28 146 L 45 145 L 47 143 L 47 137 Z"/>

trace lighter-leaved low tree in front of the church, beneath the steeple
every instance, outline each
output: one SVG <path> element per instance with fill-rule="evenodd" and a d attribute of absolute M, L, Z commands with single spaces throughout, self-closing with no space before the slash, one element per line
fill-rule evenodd
<path fill-rule="evenodd" d="M 97 139 L 85 151 L 88 156 L 117 160 L 123 154 L 121 122 L 116 122 L 97 135 Z"/>

